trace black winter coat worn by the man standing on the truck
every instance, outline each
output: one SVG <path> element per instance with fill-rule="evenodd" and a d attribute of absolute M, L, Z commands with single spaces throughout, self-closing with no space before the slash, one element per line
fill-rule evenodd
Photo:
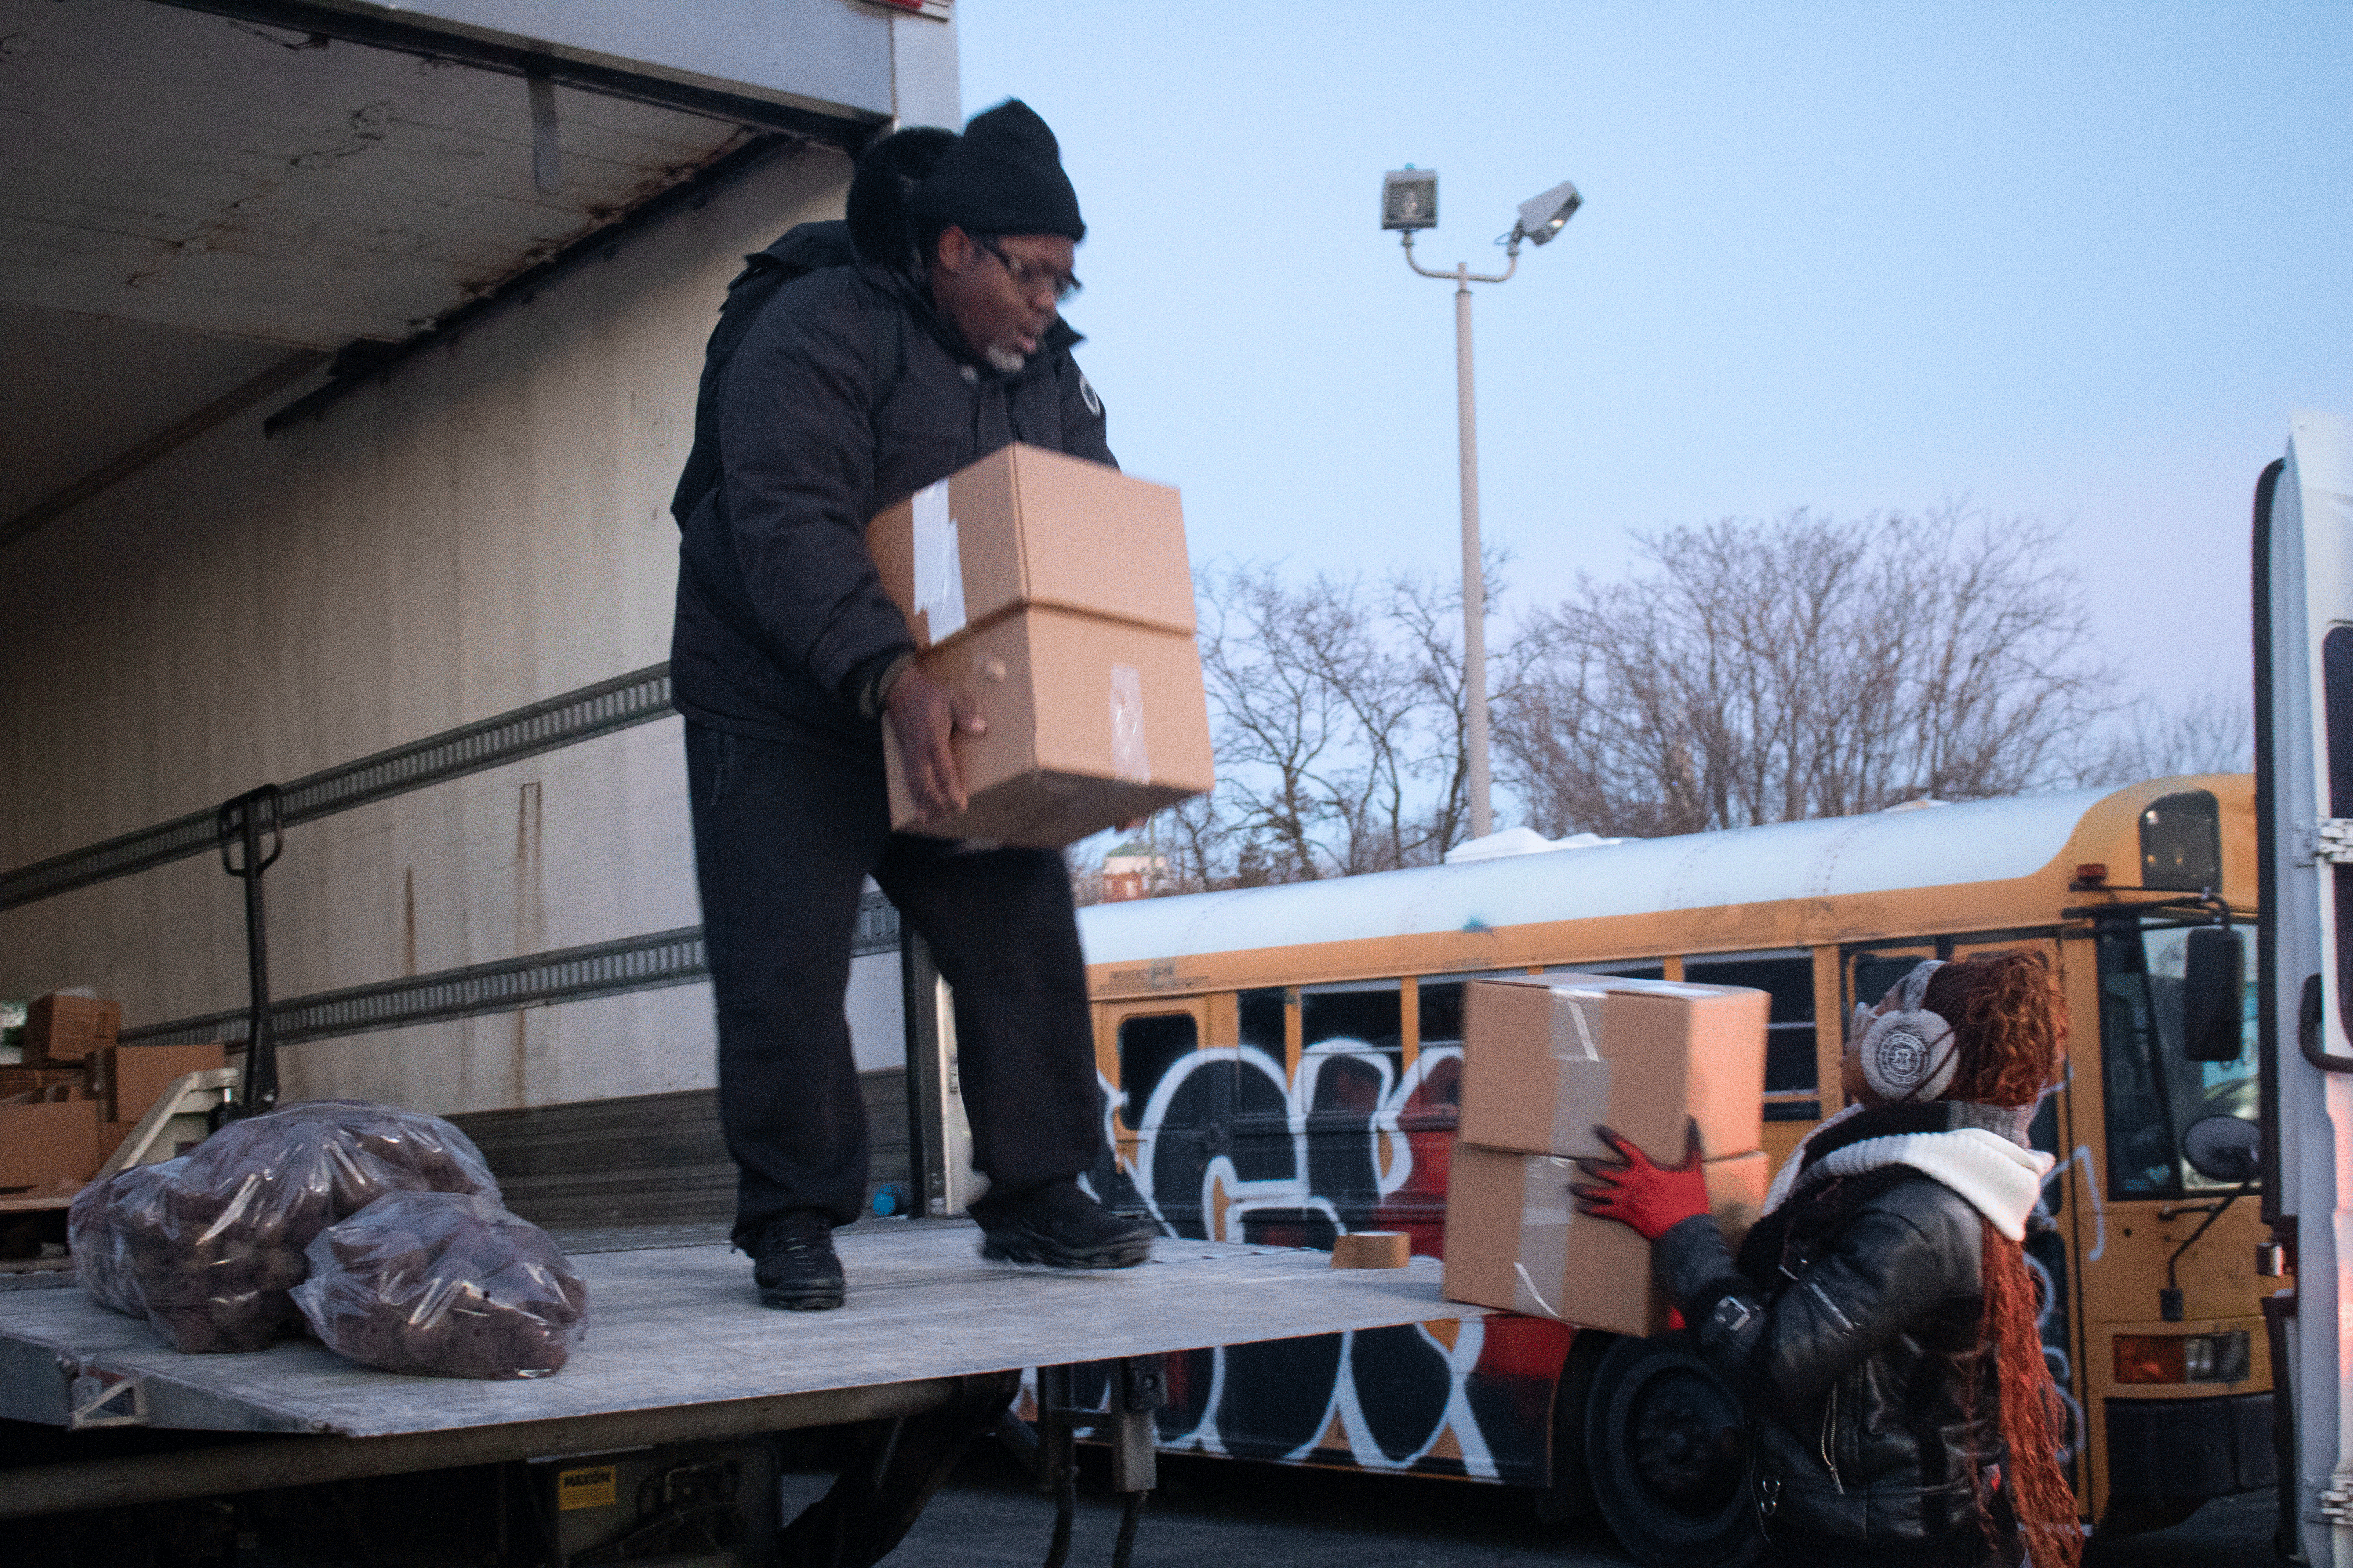
<path fill-rule="evenodd" d="M 838 266 L 776 289 L 715 388 L 720 484 L 678 520 L 678 710 L 880 759 L 856 698 L 915 639 L 866 524 L 1012 442 L 1118 465 L 1078 341 L 1054 322 L 1007 376 L 904 273 Z"/>

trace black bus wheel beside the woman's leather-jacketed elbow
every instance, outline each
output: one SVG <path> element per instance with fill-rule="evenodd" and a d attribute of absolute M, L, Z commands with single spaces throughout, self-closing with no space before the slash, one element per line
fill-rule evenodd
<path fill-rule="evenodd" d="M 1762 1549 L 1748 1507 L 1741 1401 L 1682 1333 L 1617 1340 L 1586 1399 L 1593 1500 L 1638 1563 L 1737 1568 Z"/>

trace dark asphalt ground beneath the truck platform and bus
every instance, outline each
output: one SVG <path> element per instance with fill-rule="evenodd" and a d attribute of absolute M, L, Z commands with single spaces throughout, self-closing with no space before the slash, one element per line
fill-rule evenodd
<path fill-rule="evenodd" d="M 1073 1568 L 1104 1568 L 1120 1523 L 1099 1450 L 1080 1458 Z M 786 1512 L 816 1500 L 831 1476 L 795 1472 L 784 1481 Z M 2092 1568 L 2259 1568 L 2275 1563 L 2273 1493 L 2205 1505 L 2186 1523 L 2099 1542 Z M 1035 1568 L 1045 1561 L 1054 1507 L 991 1441 L 932 1500 L 887 1559 L 892 1568 Z M 1598 1521 L 1539 1523 L 1525 1493 L 1504 1486 L 1367 1476 L 1226 1460 L 1160 1460 L 1136 1537 L 1134 1568 L 1626 1568 Z"/>

